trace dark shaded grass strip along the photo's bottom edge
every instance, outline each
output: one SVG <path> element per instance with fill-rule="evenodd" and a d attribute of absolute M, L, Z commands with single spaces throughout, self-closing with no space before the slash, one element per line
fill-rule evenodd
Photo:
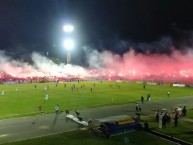
<path fill-rule="evenodd" d="M 139 139 L 140 137 L 140 139 Z M 124 140 L 126 138 L 126 140 Z M 57 135 L 27 139 L 3 145 L 174 145 L 174 143 L 137 131 L 111 137 L 109 139 L 94 136 L 87 130 L 77 130 Z"/>

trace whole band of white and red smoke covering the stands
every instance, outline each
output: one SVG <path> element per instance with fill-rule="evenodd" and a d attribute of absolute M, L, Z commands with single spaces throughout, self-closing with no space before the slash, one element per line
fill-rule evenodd
<path fill-rule="evenodd" d="M 166 54 L 140 54 L 129 51 L 123 56 L 109 51 L 88 56 L 91 66 L 83 68 L 75 65 L 55 64 L 45 56 L 35 54 L 34 65 L 16 62 L 1 55 L 0 80 L 48 78 L 89 78 L 108 80 L 193 82 L 193 52 L 173 51 Z M 91 59 L 91 57 L 94 59 Z M 94 61 L 91 61 L 94 60 Z M 95 66 L 95 67 L 92 67 Z"/>

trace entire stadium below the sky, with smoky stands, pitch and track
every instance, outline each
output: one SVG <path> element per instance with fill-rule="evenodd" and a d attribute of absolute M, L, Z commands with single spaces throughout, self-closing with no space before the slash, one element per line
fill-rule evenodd
<path fill-rule="evenodd" d="M 31 138 L 45 136 L 40 138 L 45 141 L 49 135 L 57 136 L 63 142 L 60 136 L 69 135 L 72 130 L 72 136 L 78 134 L 81 138 L 85 134 L 86 138 L 92 139 L 91 142 L 95 142 L 98 137 L 101 141 L 108 137 L 113 144 L 115 140 L 121 143 L 123 141 L 120 140 L 126 143 L 130 140 L 141 144 L 133 140 L 136 136 L 145 136 L 145 143 L 148 142 L 146 138 L 149 138 L 149 144 L 154 144 L 153 140 L 158 139 L 161 144 L 193 142 L 192 129 L 187 127 L 192 124 L 193 114 L 191 52 L 182 54 L 176 50 L 170 56 L 134 51 L 128 51 L 123 56 L 110 51 L 97 54 L 89 52 L 89 67 L 83 67 L 55 63 L 37 52 L 32 53 L 30 62 L 24 62 L 14 60 L 0 51 L 0 123 L 5 126 L 0 135 L 2 143 L 15 144 L 14 141 L 22 140 L 21 143 L 33 144 Z M 140 105 L 140 111 L 135 109 L 136 104 Z M 187 108 L 187 115 L 181 113 L 184 107 Z M 156 111 L 162 114 L 161 117 L 167 114 L 170 118 L 164 124 L 164 129 L 158 125 L 160 121 L 155 120 Z M 69 112 L 70 116 L 65 115 L 65 112 Z M 125 121 L 131 120 L 130 117 L 136 114 L 140 116 L 140 121 L 137 119 L 139 122 L 136 124 L 136 119 Z M 180 114 L 176 120 L 175 114 Z M 120 116 L 124 115 L 128 117 L 120 120 Z M 112 121 L 101 122 L 101 125 L 106 125 L 105 130 L 108 132 L 101 132 L 100 127 L 98 129 L 95 125 L 90 130 L 87 126 L 89 120 L 94 122 L 96 119 L 101 120 L 100 118 L 116 118 L 119 120 L 112 120 L 115 121 L 114 124 L 124 123 L 113 126 L 108 124 Z M 145 122 L 151 126 L 151 132 L 145 129 Z M 21 128 L 19 124 L 26 125 Z M 177 125 L 176 130 L 174 126 Z M 24 135 L 19 136 L 18 131 L 24 132 Z M 89 132 L 92 135 L 87 134 Z M 130 135 L 134 137 L 130 138 Z M 82 141 L 83 144 L 85 142 L 87 141 Z M 104 141 L 104 144 L 107 142 L 108 140 Z"/>

